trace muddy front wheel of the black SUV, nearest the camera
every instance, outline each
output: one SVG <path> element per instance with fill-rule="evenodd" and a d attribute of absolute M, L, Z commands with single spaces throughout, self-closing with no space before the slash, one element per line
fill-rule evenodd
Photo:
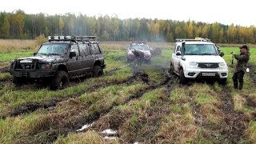
<path fill-rule="evenodd" d="M 70 84 L 70 77 L 66 71 L 58 71 L 50 83 L 50 90 L 62 90 Z"/>

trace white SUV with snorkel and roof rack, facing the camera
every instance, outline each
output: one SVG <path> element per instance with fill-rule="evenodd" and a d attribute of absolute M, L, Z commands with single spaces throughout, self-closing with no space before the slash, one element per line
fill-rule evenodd
<path fill-rule="evenodd" d="M 179 82 L 183 84 L 188 78 L 215 78 L 225 84 L 228 66 L 223 55 L 210 39 L 177 39 L 170 70 L 178 74 Z"/>

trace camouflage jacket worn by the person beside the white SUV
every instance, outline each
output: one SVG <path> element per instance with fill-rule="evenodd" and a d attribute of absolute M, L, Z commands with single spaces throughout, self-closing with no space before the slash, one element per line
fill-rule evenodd
<path fill-rule="evenodd" d="M 238 60 L 237 65 L 235 66 L 234 72 L 243 71 L 246 72 L 246 65 L 250 58 L 250 53 L 247 52 L 245 54 L 234 54 L 234 58 Z"/>

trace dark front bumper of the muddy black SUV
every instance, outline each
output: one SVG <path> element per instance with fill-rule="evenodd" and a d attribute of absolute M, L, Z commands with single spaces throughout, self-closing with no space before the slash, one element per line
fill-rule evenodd
<path fill-rule="evenodd" d="M 9 72 L 14 77 L 25 77 L 25 78 L 46 78 L 46 77 L 52 77 L 56 74 L 55 71 L 46 71 L 46 70 L 9 70 Z"/>

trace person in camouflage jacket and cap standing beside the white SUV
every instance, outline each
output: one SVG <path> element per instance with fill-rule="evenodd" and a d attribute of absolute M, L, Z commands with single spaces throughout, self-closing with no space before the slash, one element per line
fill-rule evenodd
<path fill-rule="evenodd" d="M 246 65 L 250 58 L 250 53 L 248 52 L 248 46 L 243 45 L 240 48 L 240 54 L 234 54 L 232 51 L 231 54 L 235 59 L 237 59 L 237 65 L 235 66 L 234 75 L 232 77 L 234 82 L 234 89 L 242 90 L 243 86 L 243 76 L 246 72 Z M 239 83 L 239 86 L 238 86 Z"/>

